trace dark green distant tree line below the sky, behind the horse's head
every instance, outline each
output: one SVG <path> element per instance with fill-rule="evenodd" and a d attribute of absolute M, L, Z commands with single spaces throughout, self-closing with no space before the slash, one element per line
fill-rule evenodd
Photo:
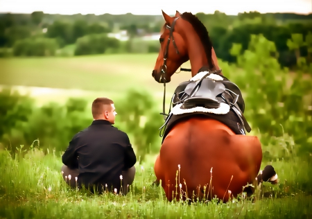
<path fill-rule="evenodd" d="M 214 12 L 196 15 L 209 30 L 218 57 L 236 62 L 229 53 L 233 44 L 241 44 L 242 52 L 248 48 L 251 35 L 262 34 L 275 43 L 275 55 L 283 67 L 296 67 L 298 63 L 311 64 L 311 15 L 291 13 L 260 14 L 244 12 L 237 16 Z M 159 33 L 164 21 L 161 15 L 0 15 L 0 56 L 55 55 L 64 46 L 74 45 L 74 55 L 138 52 L 139 37 Z M 108 37 L 107 33 L 127 30 L 128 42 Z M 135 39 L 135 40 L 134 40 Z M 140 43 L 139 43 L 140 44 Z M 139 52 L 157 52 L 159 43 L 145 42 L 146 49 Z"/>

